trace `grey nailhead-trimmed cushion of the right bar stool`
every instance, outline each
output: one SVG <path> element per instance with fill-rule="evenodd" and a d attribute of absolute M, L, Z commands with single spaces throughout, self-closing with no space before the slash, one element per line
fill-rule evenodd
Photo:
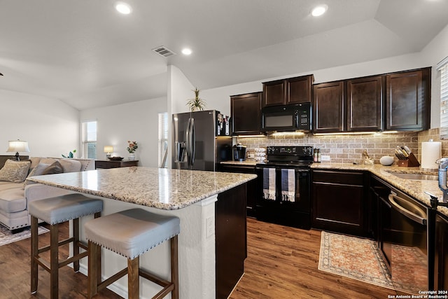
<path fill-rule="evenodd" d="M 87 221 L 87 239 L 134 259 L 181 230 L 176 216 L 154 214 L 144 209 L 129 209 Z"/>

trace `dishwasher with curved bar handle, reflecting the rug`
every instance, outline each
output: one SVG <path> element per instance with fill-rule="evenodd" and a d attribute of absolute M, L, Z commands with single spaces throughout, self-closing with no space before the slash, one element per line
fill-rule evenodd
<path fill-rule="evenodd" d="M 392 190 L 391 278 L 410 293 L 428 290 L 428 207 L 412 197 Z"/>

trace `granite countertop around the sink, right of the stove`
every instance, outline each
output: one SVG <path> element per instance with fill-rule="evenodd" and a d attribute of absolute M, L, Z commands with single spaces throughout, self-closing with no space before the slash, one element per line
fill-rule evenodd
<path fill-rule="evenodd" d="M 425 191 L 431 193 L 438 197 L 440 201 L 442 201 L 442 190 L 439 188 L 438 181 L 426 181 L 426 180 L 410 180 L 410 179 L 400 179 L 398 176 L 394 176 L 393 172 L 401 172 L 407 174 L 433 174 L 438 175 L 437 172 L 431 172 L 420 167 L 398 167 L 396 165 L 393 166 L 383 166 L 379 164 L 374 165 L 353 165 L 353 164 L 342 164 L 342 163 L 331 163 L 331 162 L 322 162 L 322 163 L 313 163 L 311 165 L 311 169 L 346 169 L 346 170 L 364 170 L 368 171 L 375 176 L 379 177 L 389 183 L 391 186 L 401 190 L 408 195 L 416 198 L 423 204 L 426 204 L 430 207 L 430 197 Z M 440 211 L 442 214 L 448 216 L 448 208 L 447 207 L 437 207 L 437 211 Z"/>

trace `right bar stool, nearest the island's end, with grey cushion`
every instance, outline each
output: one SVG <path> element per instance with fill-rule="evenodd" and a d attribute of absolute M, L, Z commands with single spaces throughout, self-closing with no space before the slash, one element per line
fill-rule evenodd
<path fill-rule="evenodd" d="M 139 298 L 139 277 L 153 281 L 162 290 L 153 298 L 163 298 L 172 293 L 179 298 L 178 235 L 180 220 L 175 216 L 153 214 L 144 209 L 129 209 L 87 221 L 85 235 L 89 240 L 90 256 L 101 251 L 101 247 L 119 253 L 127 258 L 127 268 L 98 283 L 101 267 L 97 260 L 89 258 L 87 298 L 109 286 L 127 274 L 128 298 Z M 170 240 L 171 281 L 150 274 L 139 266 L 139 256 L 158 244 Z M 101 274 L 99 275 L 101 276 Z"/>

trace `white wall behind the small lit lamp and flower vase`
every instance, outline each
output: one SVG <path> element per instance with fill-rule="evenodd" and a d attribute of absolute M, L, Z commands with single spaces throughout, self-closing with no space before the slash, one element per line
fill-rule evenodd
<path fill-rule="evenodd" d="M 158 113 L 167 112 L 167 98 L 87 109 L 80 120 L 97 120 L 97 158 L 106 160 L 104 146 L 113 146 L 112 156 L 127 159 L 127 141 L 137 141 L 139 166 L 158 167 Z"/>

